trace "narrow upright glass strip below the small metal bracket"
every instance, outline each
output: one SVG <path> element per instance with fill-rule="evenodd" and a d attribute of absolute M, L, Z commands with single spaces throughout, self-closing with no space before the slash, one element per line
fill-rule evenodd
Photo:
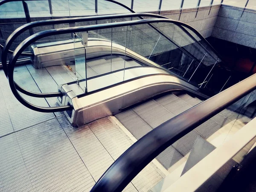
<path fill-rule="evenodd" d="M 76 78 L 78 80 L 78 84 L 84 92 L 87 92 L 87 73 L 86 73 L 86 58 L 85 58 L 85 48 L 84 41 L 81 37 L 79 37 L 76 33 L 74 35 L 74 59 L 75 59 L 75 70 L 73 66 L 69 67 L 75 71 Z M 72 67 L 71 67 L 72 66 Z M 80 81 L 84 81 L 85 83 L 81 84 Z"/>

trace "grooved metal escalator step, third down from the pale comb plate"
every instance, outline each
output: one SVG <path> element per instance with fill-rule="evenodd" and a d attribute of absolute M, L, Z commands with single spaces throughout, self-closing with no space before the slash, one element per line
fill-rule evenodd
<path fill-rule="evenodd" d="M 190 105 L 174 94 L 169 94 L 156 99 L 156 102 L 160 103 L 160 105 L 164 106 L 168 111 L 175 114 L 175 116 L 191 108 Z"/>

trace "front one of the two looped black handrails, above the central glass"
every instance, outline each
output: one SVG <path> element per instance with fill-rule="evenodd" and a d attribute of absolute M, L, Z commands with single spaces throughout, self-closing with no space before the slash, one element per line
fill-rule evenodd
<path fill-rule="evenodd" d="M 91 30 L 97 30 L 97 29 L 108 29 L 113 27 L 120 27 L 120 26 L 130 26 L 130 25 L 140 25 L 140 24 L 148 24 L 148 23 L 174 23 L 176 25 L 186 25 L 191 30 L 195 30 L 192 26 L 189 26 L 185 23 L 182 23 L 180 21 L 170 20 L 170 19 L 144 19 L 144 20 L 132 20 L 132 21 L 124 21 L 124 22 L 118 22 L 118 23 L 105 23 L 105 24 L 98 24 L 98 25 L 92 25 L 92 26 L 80 26 L 80 27 L 69 27 L 69 28 L 62 28 L 62 29 L 51 29 L 46 30 L 43 32 L 38 32 L 34 35 L 31 35 L 30 37 L 26 38 L 21 44 L 18 45 L 18 47 L 15 49 L 11 61 L 9 62 L 8 67 L 8 77 L 9 77 L 9 84 L 12 90 L 12 93 L 15 95 L 15 97 L 26 107 L 31 108 L 35 111 L 41 111 L 41 112 L 47 112 L 47 109 L 37 108 L 35 105 L 31 105 L 24 100 L 20 94 L 17 92 L 15 87 L 15 81 L 13 79 L 13 72 L 15 63 L 20 56 L 20 53 L 22 53 L 26 47 L 28 47 L 30 44 L 34 43 L 35 41 L 48 37 L 51 35 L 61 35 L 66 33 L 72 33 L 72 32 L 83 32 L 83 31 L 91 31 Z M 51 109 L 48 108 L 49 112 L 51 112 Z M 52 110 L 54 111 L 54 110 Z"/>

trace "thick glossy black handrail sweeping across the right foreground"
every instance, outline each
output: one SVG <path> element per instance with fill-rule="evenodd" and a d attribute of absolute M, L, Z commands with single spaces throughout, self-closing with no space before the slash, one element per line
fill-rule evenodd
<path fill-rule="evenodd" d="M 131 145 L 100 177 L 90 192 L 121 192 L 175 141 L 256 89 L 256 75 L 175 116 Z"/>

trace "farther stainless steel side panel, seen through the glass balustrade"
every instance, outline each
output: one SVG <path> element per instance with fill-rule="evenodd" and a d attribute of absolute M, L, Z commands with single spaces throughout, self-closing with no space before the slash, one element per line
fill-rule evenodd
<path fill-rule="evenodd" d="M 82 44 L 81 47 L 83 47 Z M 76 48 L 79 49 L 79 47 Z M 59 44 L 58 42 L 58 44 L 56 44 L 55 46 L 35 47 L 33 48 L 33 52 L 35 54 L 35 68 L 50 67 L 54 65 L 70 65 L 74 61 L 73 42 L 66 44 Z M 154 62 L 143 57 L 142 55 L 130 49 L 125 49 L 125 47 L 122 45 L 116 43 L 111 44 L 111 41 L 103 41 L 102 39 L 96 40 L 95 38 L 89 38 L 88 47 L 86 47 L 86 58 L 94 58 L 111 53 L 125 55 L 125 52 L 127 56 L 137 59 L 144 64 L 162 68 L 160 65 L 155 64 Z M 81 54 L 84 54 L 84 52 L 82 52 Z"/>

